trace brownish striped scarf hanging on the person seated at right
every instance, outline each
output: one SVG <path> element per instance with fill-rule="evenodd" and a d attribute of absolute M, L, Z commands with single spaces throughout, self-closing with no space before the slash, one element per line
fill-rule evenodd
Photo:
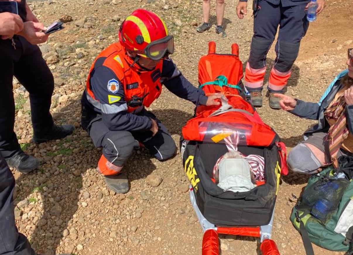
<path fill-rule="evenodd" d="M 324 113 L 327 119 L 333 119 L 336 121 L 335 124 L 330 127 L 328 132 L 329 151 L 334 168 L 338 167 L 337 153 L 340 150 L 343 141 L 349 134 L 345 108 L 346 102 L 343 94 L 333 102 Z"/>

